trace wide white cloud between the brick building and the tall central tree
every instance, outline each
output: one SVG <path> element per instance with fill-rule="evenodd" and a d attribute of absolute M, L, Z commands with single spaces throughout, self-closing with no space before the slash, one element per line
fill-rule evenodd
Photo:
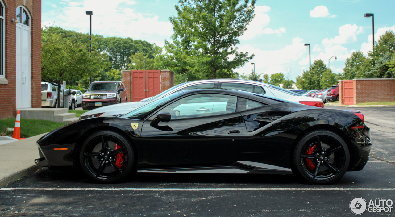
<path fill-rule="evenodd" d="M 163 46 L 163 39 L 173 34 L 169 21 L 159 21 L 157 15 L 147 15 L 136 11 L 131 0 L 83 0 L 73 2 L 62 0 L 62 7 L 43 11 L 42 26 L 53 25 L 77 32 L 89 31 L 89 17 L 86 10 L 92 10 L 92 34 L 104 36 L 130 37 L 147 40 Z M 105 7 L 103 7 L 105 5 Z M 166 19 L 167 20 L 167 19 Z M 55 22 L 55 23 L 54 23 Z"/>

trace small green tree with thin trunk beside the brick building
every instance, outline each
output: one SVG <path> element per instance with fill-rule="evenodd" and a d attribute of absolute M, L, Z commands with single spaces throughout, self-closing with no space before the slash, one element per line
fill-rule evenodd
<path fill-rule="evenodd" d="M 103 55 L 92 49 L 90 53 L 85 34 L 76 35 L 73 40 L 66 34 L 45 28 L 41 37 L 41 79 L 58 85 L 58 107 L 60 107 L 60 86 L 63 80 L 77 80 L 94 76 L 106 62 Z"/>

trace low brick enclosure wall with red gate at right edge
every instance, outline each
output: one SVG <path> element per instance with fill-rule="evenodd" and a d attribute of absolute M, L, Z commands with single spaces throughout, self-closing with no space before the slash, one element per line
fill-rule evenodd
<path fill-rule="evenodd" d="M 393 102 L 395 78 L 356 78 L 339 80 L 339 103 Z"/>

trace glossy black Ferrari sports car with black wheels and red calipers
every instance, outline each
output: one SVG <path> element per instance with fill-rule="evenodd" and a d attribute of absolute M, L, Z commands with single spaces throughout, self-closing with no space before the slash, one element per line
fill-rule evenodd
<path fill-rule="evenodd" d="M 332 183 L 362 170 L 371 149 L 359 112 L 246 91 L 175 92 L 120 117 L 64 125 L 37 141 L 47 167 L 79 166 L 110 183 L 131 172 L 295 174 Z"/>

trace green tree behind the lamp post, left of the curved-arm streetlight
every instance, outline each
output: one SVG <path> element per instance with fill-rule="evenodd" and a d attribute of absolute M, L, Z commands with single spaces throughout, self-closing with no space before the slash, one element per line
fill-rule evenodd
<path fill-rule="evenodd" d="M 311 65 L 311 68 L 307 71 L 303 71 L 302 77 L 297 79 L 298 85 L 303 90 L 321 89 L 322 74 L 327 71 L 327 67 L 322 60 L 315 60 Z"/>

